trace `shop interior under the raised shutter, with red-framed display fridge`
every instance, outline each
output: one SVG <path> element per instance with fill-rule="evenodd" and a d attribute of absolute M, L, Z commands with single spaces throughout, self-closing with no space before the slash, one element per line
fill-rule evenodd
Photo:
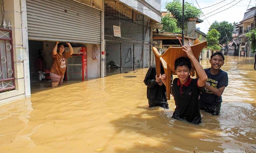
<path fill-rule="evenodd" d="M 69 51 L 66 42 L 65 51 Z M 29 40 L 29 71 L 31 82 L 50 81 L 52 66 L 52 49 L 55 41 Z M 100 45 L 71 43 L 74 54 L 67 59 L 64 80 L 85 81 L 100 76 Z M 89 65 L 88 65 L 89 63 Z"/>

